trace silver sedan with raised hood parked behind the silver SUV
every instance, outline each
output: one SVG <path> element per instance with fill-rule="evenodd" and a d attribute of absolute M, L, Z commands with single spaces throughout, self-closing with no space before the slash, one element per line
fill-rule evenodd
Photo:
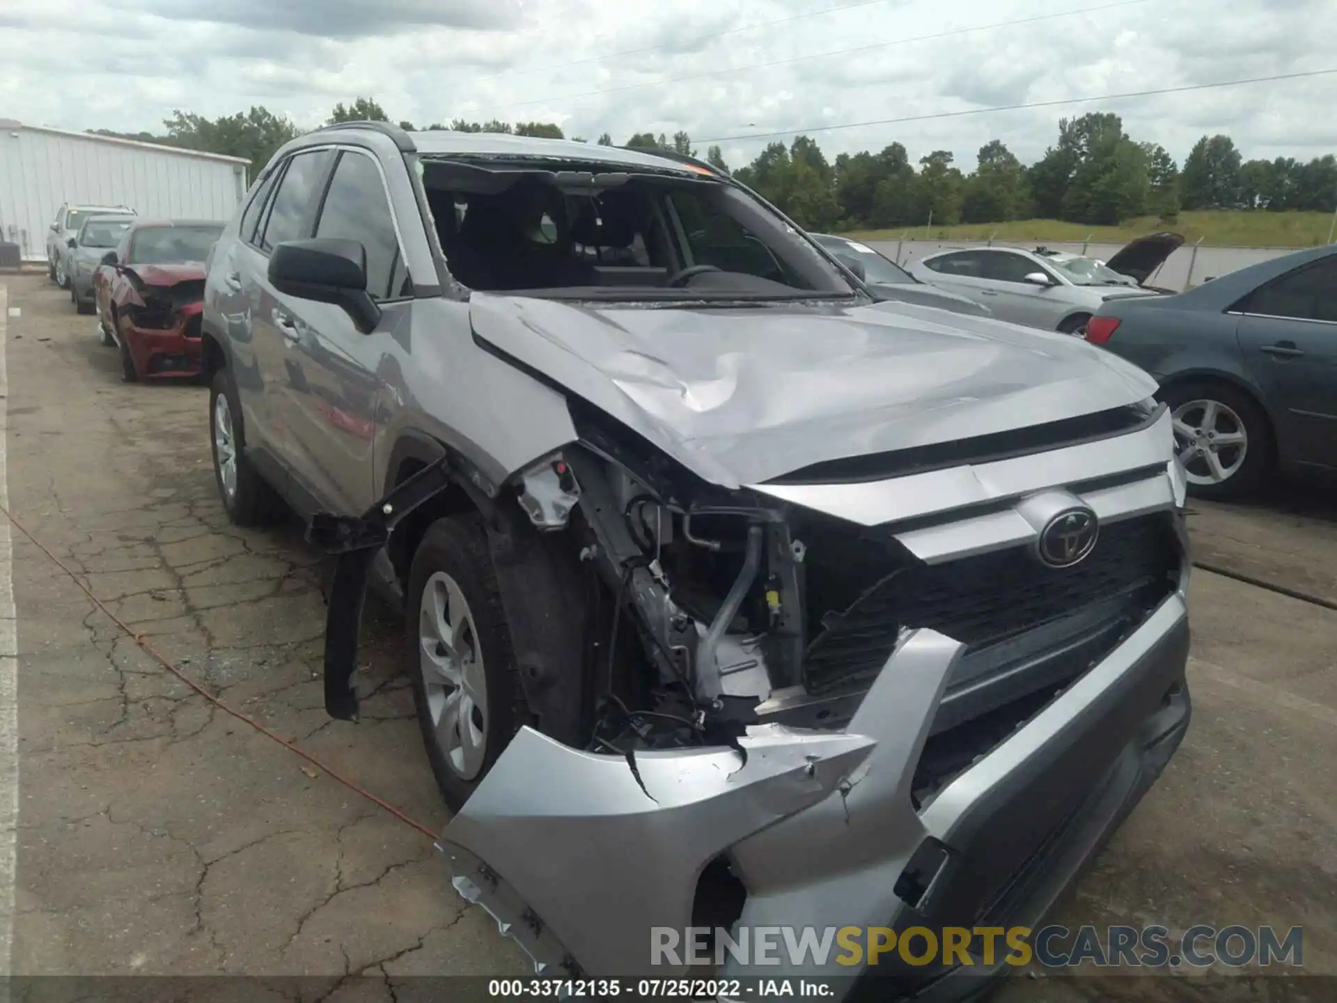
<path fill-rule="evenodd" d="M 1108 265 L 1043 247 L 973 247 L 931 254 L 909 270 L 924 282 L 984 304 L 997 320 L 1080 336 L 1103 304 L 1158 296 L 1161 290 L 1139 282 L 1181 242 L 1178 234 L 1155 234 L 1130 243 Z"/>

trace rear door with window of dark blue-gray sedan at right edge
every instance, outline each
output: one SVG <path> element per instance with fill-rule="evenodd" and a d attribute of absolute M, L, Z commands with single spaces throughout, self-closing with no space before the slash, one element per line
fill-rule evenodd
<path fill-rule="evenodd" d="M 1278 275 L 1231 313 L 1245 364 L 1285 423 L 1288 453 L 1337 467 L 1337 254 Z"/>

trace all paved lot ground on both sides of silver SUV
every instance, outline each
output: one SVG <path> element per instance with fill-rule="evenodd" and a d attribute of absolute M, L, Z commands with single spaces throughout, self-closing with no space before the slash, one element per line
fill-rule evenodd
<path fill-rule="evenodd" d="M 122 384 L 95 318 L 75 316 L 45 275 L 0 278 L 5 288 L 0 491 L 7 481 L 13 515 L 193 678 L 414 820 L 444 825 L 397 674 L 398 626 L 382 618 L 364 635 L 376 691 L 362 721 L 332 722 L 317 555 L 298 527 L 227 524 L 207 391 Z M 1197 556 L 1337 602 L 1332 492 L 1195 504 L 1191 528 Z M 0 951 L 15 974 L 366 972 L 386 1000 L 388 980 L 408 975 L 528 974 L 487 915 L 464 908 L 425 836 L 214 710 L 9 535 L 17 730 L 7 732 L 0 685 L 0 822 L 12 800 L 7 741 L 17 821 L 12 867 L 0 847 L 5 927 L 13 897 Z M 1337 612 L 1209 572 L 1195 575 L 1191 604 L 1189 738 L 1058 919 L 1300 924 L 1305 968 L 1337 974 Z M 8 667 L 0 675 L 12 678 Z M 1020 979 L 1001 996 L 1094 1000 L 1127 987 Z M 1177 978 L 1138 994 L 1186 990 Z M 1280 998 L 1265 984 L 1249 992 Z"/>

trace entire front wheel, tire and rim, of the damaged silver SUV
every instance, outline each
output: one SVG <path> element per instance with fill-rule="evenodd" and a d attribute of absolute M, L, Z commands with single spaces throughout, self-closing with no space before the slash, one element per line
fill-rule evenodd
<path fill-rule="evenodd" d="M 527 719 L 481 519 L 448 516 L 428 528 L 413 555 L 405 619 L 428 762 L 457 812 Z"/>

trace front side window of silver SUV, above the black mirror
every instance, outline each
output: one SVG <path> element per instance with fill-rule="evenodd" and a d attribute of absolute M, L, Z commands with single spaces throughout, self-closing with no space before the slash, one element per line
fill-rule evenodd
<path fill-rule="evenodd" d="M 316 235 L 357 241 L 366 249 L 366 292 L 373 300 L 408 294 L 408 274 L 394 235 L 385 182 L 366 154 L 340 154 Z"/>

